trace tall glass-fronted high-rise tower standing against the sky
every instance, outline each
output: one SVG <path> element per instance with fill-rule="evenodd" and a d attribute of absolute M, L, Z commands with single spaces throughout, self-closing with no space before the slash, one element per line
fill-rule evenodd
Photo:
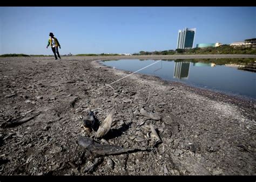
<path fill-rule="evenodd" d="M 193 48 L 196 28 L 179 30 L 177 48 Z"/>

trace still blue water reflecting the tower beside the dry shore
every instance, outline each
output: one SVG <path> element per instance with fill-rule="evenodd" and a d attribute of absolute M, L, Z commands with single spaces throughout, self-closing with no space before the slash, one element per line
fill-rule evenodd
<path fill-rule="evenodd" d="M 107 60 L 103 65 L 116 69 L 135 72 L 158 60 Z M 234 60 L 195 61 L 161 60 L 138 73 L 156 75 L 164 80 L 179 81 L 193 87 L 211 89 L 230 95 L 256 99 L 256 72 L 245 65 L 255 65 L 254 61 L 242 65 L 233 64 Z M 219 63 L 219 65 L 218 65 Z M 246 70 L 245 69 L 246 67 Z M 249 71 L 248 71 L 249 70 Z"/>

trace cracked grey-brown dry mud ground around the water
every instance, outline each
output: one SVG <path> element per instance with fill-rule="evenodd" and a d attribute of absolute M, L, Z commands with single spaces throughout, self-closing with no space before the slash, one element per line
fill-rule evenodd
<path fill-rule="evenodd" d="M 255 100 L 142 74 L 107 86 L 130 72 L 98 63 L 105 59 L 185 58 L 0 58 L 1 175 L 255 175 Z M 114 124 L 102 139 L 84 131 L 90 110 L 103 121 L 112 109 Z M 149 150 L 99 155 L 79 136 Z"/>

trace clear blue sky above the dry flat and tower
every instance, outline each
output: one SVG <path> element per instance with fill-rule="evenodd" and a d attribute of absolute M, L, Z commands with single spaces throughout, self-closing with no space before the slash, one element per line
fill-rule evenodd
<path fill-rule="evenodd" d="M 0 54 L 135 53 L 176 49 L 178 30 L 198 43 L 256 37 L 256 7 L 0 7 Z"/>

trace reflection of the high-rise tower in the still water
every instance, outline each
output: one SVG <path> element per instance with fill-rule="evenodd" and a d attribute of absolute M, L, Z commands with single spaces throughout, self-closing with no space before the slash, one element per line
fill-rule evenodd
<path fill-rule="evenodd" d="M 188 79 L 190 72 L 190 62 L 175 62 L 173 78 Z"/>

